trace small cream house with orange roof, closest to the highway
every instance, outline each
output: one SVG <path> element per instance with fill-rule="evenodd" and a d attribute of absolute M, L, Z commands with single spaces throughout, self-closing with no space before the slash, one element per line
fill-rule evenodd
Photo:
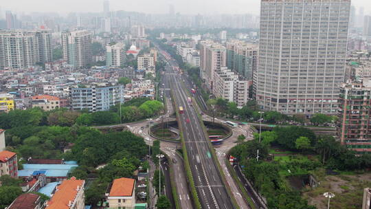
<path fill-rule="evenodd" d="M 110 208 L 134 208 L 135 179 L 114 179 L 106 190 Z"/>

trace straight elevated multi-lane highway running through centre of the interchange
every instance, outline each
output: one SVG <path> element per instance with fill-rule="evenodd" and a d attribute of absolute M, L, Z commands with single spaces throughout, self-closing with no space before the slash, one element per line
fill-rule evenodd
<path fill-rule="evenodd" d="M 175 101 L 173 101 L 176 102 L 175 107 L 181 106 L 184 109 L 179 117 L 179 126 L 183 131 L 192 177 L 201 206 L 202 208 L 234 208 L 212 158 L 201 122 L 194 107 L 187 101 L 188 94 L 181 85 L 183 80 L 179 72 L 174 70 L 177 69 L 177 63 L 171 59 L 168 59 L 168 63 L 170 67 L 166 67 L 168 70 L 167 76 L 164 76 L 166 78 L 164 82 L 170 83 L 170 89 L 175 96 Z"/>

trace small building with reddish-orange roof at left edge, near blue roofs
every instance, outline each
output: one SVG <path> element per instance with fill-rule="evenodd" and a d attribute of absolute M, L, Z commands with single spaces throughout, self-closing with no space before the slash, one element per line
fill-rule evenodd
<path fill-rule="evenodd" d="M 10 175 L 11 177 L 18 177 L 18 164 L 16 153 L 10 151 L 0 152 L 0 176 Z"/>

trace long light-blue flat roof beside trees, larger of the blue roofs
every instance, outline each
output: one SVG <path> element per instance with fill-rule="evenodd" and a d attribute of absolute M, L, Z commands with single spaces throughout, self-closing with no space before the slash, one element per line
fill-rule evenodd
<path fill-rule="evenodd" d="M 23 164 L 19 177 L 29 177 L 43 173 L 46 177 L 67 177 L 69 171 L 78 164 Z"/>

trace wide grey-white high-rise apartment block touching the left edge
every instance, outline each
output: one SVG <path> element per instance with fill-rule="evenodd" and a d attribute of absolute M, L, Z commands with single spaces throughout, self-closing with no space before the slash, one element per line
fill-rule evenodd
<path fill-rule="evenodd" d="M 50 30 L 9 30 L 0 32 L 0 69 L 28 68 L 52 61 Z"/>

